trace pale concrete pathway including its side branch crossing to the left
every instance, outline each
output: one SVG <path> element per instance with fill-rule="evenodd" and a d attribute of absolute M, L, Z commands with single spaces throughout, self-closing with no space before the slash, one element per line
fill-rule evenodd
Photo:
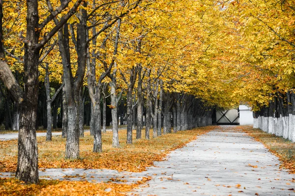
<path fill-rule="evenodd" d="M 166 161 L 141 173 L 110 169 L 40 169 L 44 179 L 134 183 L 152 179 L 129 195 L 157 196 L 295 196 L 295 175 L 279 168 L 278 158 L 262 143 L 233 126 L 220 126 L 185 147 L 172 151 Z M 0 173 L 0 177 L 11 173 Z"/>

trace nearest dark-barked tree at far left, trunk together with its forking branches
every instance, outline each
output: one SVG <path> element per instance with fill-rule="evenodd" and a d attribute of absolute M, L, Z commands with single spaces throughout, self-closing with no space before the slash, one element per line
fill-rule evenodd
<path fill-rule="evenodd" d="M 38 1 L 27 1 L 27 33 L 24 39 L 25 92 L 16 82 L 15 77 L 9 69 L 4 58 L 3 44 L 1 44 L 0 78 L 11 94 L 13 94 L 13 99 L 21 106 L 16 177 L 25 182 L 38 183 L 38 152 L 35 124 L 38 99 L 39 52 L 59 28 L 75 13 L 81 1 L 77 0 L 70 10 L 61 17 L 59 23 L 41 41 L 39 41 L 39 38 L 42 29 L 66 8 L 70 0 L 62 3 L 42 23 L 39 23 Z M 2 21 L 2 1 L 0 1 L 0 4 L 0 19 Z M 2 36 L 0 39 L 1 43 L 3 43 Z"/>

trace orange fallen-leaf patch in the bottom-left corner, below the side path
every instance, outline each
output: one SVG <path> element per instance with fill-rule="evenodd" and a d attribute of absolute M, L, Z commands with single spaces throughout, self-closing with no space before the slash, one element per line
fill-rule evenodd
<path fill-rule="evenodd" d="M 40 180 L 39 184 L 25 184 L 15 178 L 0 178 L 0 196 L 125 196 L 150 178 L 134 184 L 90 183 L 87 181 Z"/>

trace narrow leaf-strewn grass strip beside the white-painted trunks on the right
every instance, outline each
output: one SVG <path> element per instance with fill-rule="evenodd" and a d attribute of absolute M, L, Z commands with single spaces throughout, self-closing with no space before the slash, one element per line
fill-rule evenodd
<path fill-rule="evenodd" d="M 281 168 L 286 168 L 290 173 L 295 173 L 295 143 L 266 133 L 260 129 L 240 126 L 239 129 L 252 136 L 255 140 L 262 142 L 266 148 L 274 153 L 282 162 Z"/>

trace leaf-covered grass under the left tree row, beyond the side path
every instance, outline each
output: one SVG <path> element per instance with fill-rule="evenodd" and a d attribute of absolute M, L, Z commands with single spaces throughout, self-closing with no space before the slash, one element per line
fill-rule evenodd
<path fill-rule="evenodd" d="M 151 140 L 134 140 L 126 144 L 126 130 L 119 130 L 120 148 L 112 147 L 112 132 L 103 134 L 103 152 L 94 153 L 93 137 L 86 133 L 80 138 L 80 159 L 64 159 L 65 139 L 53 137 L 45 141 L 38 137 L 39 168 L 107 168 L 118 171 L 140 172 L 161 161 L 170 150 L 180 148 L 196 136 L 212 130 L 214 126 L 197 128 L 163 135 Z M 152 135 L 152 130 L 150 136 Z M 133 133 L 133 138 L 136 133 Z M 143 131 L 142 138 L 145 138 Z M 0 141 L 0 172 L 15 172 L 17 164 L 17 140 Z"/>

